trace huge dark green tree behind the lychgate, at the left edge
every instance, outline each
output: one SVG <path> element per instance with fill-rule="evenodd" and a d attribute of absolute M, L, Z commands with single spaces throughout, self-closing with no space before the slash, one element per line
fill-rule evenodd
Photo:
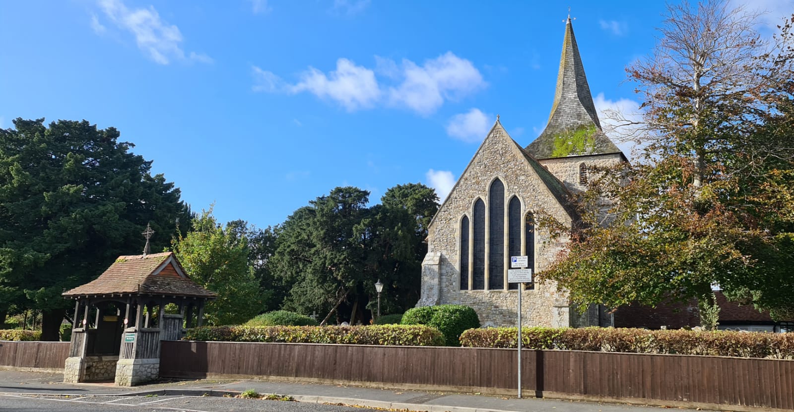
<path fill-rule="evenodd" d="M 0 314 L 9 300 L 42 310 L 42 340 L 57 341 L 64 289 L 140 253 L 148 223 L 168 245 L 190 210 L 151 161 L 88 121 L 13 121 L 0 129 Z"/>

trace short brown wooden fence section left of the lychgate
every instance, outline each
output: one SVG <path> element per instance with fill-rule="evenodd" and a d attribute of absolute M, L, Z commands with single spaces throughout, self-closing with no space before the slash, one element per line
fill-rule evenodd
<path fill-rule="evenodd" d="M 69 342 L 0 341 L 0 367 L 63 369 Z"/>

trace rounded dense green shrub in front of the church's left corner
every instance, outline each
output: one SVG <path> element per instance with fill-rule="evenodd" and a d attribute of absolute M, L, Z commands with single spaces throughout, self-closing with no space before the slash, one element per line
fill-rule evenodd
<path fill-rule="evenodd" d="M 420 306 L 403 314 L 401 325 L 427 325 L 444 334 L 448 346 L 460 346 L 458 337 L 466 329 L 479 328 L 480 318 L 464 305 Z"/>

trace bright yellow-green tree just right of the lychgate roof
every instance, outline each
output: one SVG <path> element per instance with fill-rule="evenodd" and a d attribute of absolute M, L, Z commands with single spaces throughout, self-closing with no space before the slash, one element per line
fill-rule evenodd
<path fill-rule="evenodd" d="M 210 325 L 239 324 L 260 312 L 260 285 L 249 262 L 248 230 L 243 221 L 219 225 L 210 208 L 191 222 L 187 235 L 172 241 L 191 279 L 218 294 L 206 306 Z"/>

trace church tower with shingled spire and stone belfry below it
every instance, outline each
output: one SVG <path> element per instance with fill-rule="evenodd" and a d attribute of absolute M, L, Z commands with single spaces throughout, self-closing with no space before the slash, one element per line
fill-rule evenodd
<path fill-rule="evenodd" d="M 526 146 L 526 151 L 572 191 L 587 188 L 588 167 L 626 161 L 626 156 L 601 129 L 570 16 L 565 23 L 557 91 L 549 121 L 543 133 Z"/>

